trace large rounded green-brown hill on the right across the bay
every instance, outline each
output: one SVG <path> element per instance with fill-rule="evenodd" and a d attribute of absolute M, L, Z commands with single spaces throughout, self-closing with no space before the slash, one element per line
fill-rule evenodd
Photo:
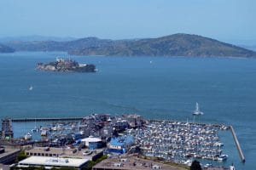
<path fill-rule="evenodd" d="M 69 53 L 109 56 L 256 57 L 256 53 L 251 50 L 189 34 L 174 34 L 130 42 L 113 42 L 101 47 L 79 48 L 69 51 Z"/>

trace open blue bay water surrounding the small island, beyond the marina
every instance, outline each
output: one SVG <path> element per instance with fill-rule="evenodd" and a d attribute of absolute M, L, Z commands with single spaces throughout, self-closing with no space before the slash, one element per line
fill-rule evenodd
<path fill-rule="evenodd" d="M 36 71 L 65 53 L 0 54 L 0 118 L 137 113 L 147 118 L 233 125 L 246 156 L 242 164 L 229 132 L 224 150 L 236 169 L 256 169 L 256 59 L 79 57 L 96 73 Z M 150 64 L 150 61 L 152 63 Z M 32 85 L 33 89 L 28 88 Z"/>

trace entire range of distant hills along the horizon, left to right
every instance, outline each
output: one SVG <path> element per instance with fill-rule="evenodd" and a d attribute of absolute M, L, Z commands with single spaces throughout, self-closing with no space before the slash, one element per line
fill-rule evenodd
<path fill-rule="evenodd" d="M 256 52 L 217 40 L 190 34 L 166 37 L 110 40 L 86 37 L 74 41 L 5 43 L 17 51 L 67 51 L 76 55 L 256 57 Z"/>

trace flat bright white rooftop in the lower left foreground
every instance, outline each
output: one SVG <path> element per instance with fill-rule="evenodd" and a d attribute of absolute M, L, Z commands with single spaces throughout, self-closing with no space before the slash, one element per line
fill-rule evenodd
<path fill-rule="evenodd" d="M 33 164 L 38 166 L 61 166 L 61 167 L 80 167 L 84 163 L 89 161 L 88 159 L 77 158 L 60 158 L 49 156 L 30 156 L 25 160 L 19 161 L 19 165 Z"/>

